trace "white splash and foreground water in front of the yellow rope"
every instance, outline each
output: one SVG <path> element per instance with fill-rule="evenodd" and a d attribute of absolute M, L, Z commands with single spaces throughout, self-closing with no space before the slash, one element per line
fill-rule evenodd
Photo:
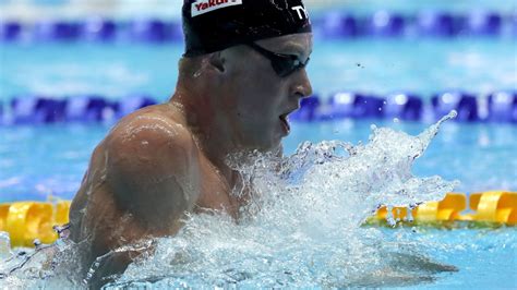
<path fill-rule="evenodd" d="M 512 287 L 514 228 L 360 227 L 381 203 L 440 200 L 457 186 L 411 172 L 413 158 L 408 157 L 430 148 L 437 128 L 418 136 L 370 129 L 364 145 L 305 143 L 281 172 L 267 155 L 240 165 L 261 195 L 252 198 L 239 223 L 224 214 L 191 216 L 176 237 L 152 241 L 154 254 L 130 265 L 109 287 Z M 412 130 L 418 128 L 408 131 Z M 333 149 L 341 147 L 348 157 Z M 70 245 L 65 240 L 55 245 L 61 255 L 50 264 L 51 271 L 36 252 L 4 282 L 79 287 L 82 278 L 70 266 L 76 257 L 70 251 L 77 247 Z M 508 279 L 501 280 L 502 275 Z"/>

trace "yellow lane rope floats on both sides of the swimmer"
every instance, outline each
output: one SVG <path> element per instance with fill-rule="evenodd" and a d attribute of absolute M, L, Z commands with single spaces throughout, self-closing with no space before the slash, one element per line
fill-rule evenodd
<path fill-rule="evenodd" d="M 470 213 L 462 213 L 470 208 Z M 58 234 L 55 226 L 69 222 L 70 202 L 52 203 L 20 202 L 0 204 L 0 231 L 7 231 L 12 246 L 34 246 L 37 239 L 41 243 L 56 241 Z M 411 209 L 392 208 L 395 220 L 414 219 L 419 225 L 428 222 L 489 222 L 495 225 L 517 225 L 517 193 L 491 191 L 484 193 L 448 193 L 443 201 L 428 202 Z M 382 207 L 370 221 L 383 221 L 388 216 L 387 208 Z"/>

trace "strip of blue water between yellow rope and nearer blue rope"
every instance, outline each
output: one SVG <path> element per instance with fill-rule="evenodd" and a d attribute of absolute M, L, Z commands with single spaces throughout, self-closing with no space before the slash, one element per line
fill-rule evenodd
<path fill-rule="evenodd" d="M 428 124 L 380 120 L 294 123 L 284 142 L 292 153 L 304 142 L 366 142 L 374 123 L 416 134 Z M 37 200 L 49 194 L 72 198 L 93 148 L 109 124 L 0 126 L 0 202 Z M 446 123 L 416 164 L 416 173 L 461 182 L 459 191 L 517 190 L 517 126 Z"/>

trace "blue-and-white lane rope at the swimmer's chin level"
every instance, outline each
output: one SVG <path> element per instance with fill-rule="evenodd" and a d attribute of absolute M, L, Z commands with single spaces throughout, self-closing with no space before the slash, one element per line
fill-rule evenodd
<path fill-rule="evenodd" d="M 412 93 L 386 96 L 339 92 L 326 97 L 304 98 L 301 108 L 290 119 L 294 121 L 327 121 L 341 119 L 400 119 L 434 122 L 452 110 L 459 122 L 505 122 L 517 124 L 517 90 L 500 90 L 489 95 L 464 92 L 434 94 L 430 100 Z M 140 108 L 155 105 L 149 95 L 130 95 L 118 100 L 99 95 L 56 97 L 38 94 L 0 102 L 0 125 L 44 124 L 65 122 L 113 122 Z"/>

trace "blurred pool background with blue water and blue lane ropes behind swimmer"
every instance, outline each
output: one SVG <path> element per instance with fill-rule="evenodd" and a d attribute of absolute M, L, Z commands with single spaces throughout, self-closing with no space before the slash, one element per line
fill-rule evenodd
<path fill-rule="evenodd" d="M 489 0 L 305 0 L 314 97 L 303 141 L 416 134 L 452 109 L 416 173 L 517 190 L 517 8 Z M 70 200 L 122 116 L 173 93 L 180 0 L 0 0 L 0 202 Z M 344 169 L 345 170 L 345 169 Z"/>

